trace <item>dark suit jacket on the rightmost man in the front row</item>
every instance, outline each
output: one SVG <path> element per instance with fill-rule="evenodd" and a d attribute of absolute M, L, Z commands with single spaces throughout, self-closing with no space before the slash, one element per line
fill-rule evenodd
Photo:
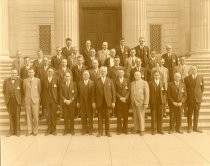
<path fill-rule="evenodd" d="M 204 80 L 203 76 L 197 75 L 196 82 L 194 85 L 194 80 L 192 75 L 189 75 L 184 80 L 187 90 L 187 102 L 193 103 L 201 103 L 204 91 Z M 195 99 L 195 100 L 194 100 Z"/>

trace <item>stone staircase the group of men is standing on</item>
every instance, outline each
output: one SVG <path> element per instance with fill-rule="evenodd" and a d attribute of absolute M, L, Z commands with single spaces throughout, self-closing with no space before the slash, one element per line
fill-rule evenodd
<path fill-rule="evenodd" d="M 204 91 L 204 98 L 201 105 L 200 110 L 200 117 L 199 117 L 199 126 L 203 130 L 210 130 L 210 58 L 188 58 L 188 64 L 195 64 L 198 66 L 199 73 L 203 74 L 204 81 L 205 81 L 205 91 Z M 3 81 L 10 75 L 10 68 L 11 62 L 9 61 L 1 61 L 0 62 L 0 135 L 5 135 L 9 130 L 9 119 L 8 113 L 6 110 L 6 106 L 4 104 L 4 97 L 2 93 Z M 147 114 L 149 115 L 149 110 L 147 110 Z M 129 130 L 133 127 L 133 119 L 132 114 L 130 113 L 129 117 Z M 24 108 L 21 111 L 21 133 L 26 133 L 27 126 L 25 120 L 25 111 Z M 110 128 L 112 131 L 116 131 L 117 128 L 117 121 L 116 118 L 111 119 Z M 150 116 L 146 119 L 146 129 L 150 130 Z M 163 129 L 168 131 L 169 127 L 169 117 L 163 120 Z M 187 119 L 186 117 L 182 118 L 182 128 L 186 129 L 187 127 Z M 39 132 L 43 133 L 47 129 L 46 120 L 40 121 L 40 128 Z M 57 122 L 57 130 L 61 133 L 64 129 L 64 122 L 63 120 L 58 120 Z M 97 118 L 94 118 L 94 130 L 97 131 Z M 81 120 L 75 119 L 75 131 L 81 131 Z"/>

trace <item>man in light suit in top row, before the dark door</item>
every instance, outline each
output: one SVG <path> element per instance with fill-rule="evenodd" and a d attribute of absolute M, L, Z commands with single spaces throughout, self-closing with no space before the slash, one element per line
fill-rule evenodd
<path fill-rule="evenodd" d="M 104 62 L 109 56 L 110 56 L 110 50 L 108 49 L 108 43 L 103 42 L 102 50 L 98 51 L 99 63 L 101 64 L 101 66 L 104 66 Z"/>

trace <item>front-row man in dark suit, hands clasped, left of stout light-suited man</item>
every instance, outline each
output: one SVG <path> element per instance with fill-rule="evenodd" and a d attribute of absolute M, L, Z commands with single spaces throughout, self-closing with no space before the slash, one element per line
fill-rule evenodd
<path fill-rule="evenodd" d="M 124 78 L 124 70 L 118 70 L 114 85 L 116 90 L 117 134 L 128 134 L 128 111 L 130 105 L 130 83 Z"/>

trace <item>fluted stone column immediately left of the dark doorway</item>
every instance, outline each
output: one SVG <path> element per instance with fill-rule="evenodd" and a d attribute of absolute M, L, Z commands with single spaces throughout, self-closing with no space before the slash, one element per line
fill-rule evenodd
<path fill-rule="evenodd" d="M 55 0 L 55 46 L 63 47 L 67 37 L 79 47 L 79 1 Z"/>

